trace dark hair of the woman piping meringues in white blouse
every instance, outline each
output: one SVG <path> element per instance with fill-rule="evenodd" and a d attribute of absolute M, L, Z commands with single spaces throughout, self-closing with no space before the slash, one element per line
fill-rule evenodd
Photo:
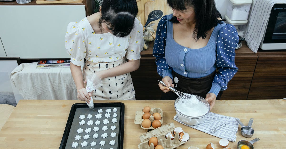
<path fill-rule="evenodd" d="M 134 27 L 134 19 L 138 13 L 136 0 L 104 0 L 101 6 L 101 23 L 108 23 L 112 34 L 125 37 Z"/>

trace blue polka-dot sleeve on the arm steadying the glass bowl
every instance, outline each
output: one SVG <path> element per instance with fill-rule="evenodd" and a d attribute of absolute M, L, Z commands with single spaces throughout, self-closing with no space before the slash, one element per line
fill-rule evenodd
<path fill-rule="evenodd" d="M 217 74 L 212 83 L 210 92 L 218 95 L 220 90 L 226 90 L 227 84 L 237 73 L 235 66 L 235 48 L 237 47 L 239 37 L 235 27 L 226 24 L 219 31 L 217 36 Z"/>

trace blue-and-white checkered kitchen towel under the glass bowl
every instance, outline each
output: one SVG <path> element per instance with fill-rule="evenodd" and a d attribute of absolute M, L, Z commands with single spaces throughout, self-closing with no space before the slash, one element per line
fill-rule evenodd
<path fill-rule="evenodd" d="M 174 116 L 174 120 L 184 124 L 182 121 L 180 121 L 177 115 Z M 226 126 L 217 130 L 215 133 L 209 132 L 210 129 L 216 128 L 217 126 L 220 126 L 223 123 L 225 123 Z M 212 112 L 209 112 L 208 115 L 206 116 L 206 119 L 204 119 L 204 121 L 198 125 L 188 125 L 188 124 L 184 125 L 192 127 L 196 130 L 200 130 L 212 136 L 216 136 L 222 139 L 228 139 L 231 142 L 235 142 L 236 133 L 238 130 L 238 122 L 233 117 L 224 116 Z"/>

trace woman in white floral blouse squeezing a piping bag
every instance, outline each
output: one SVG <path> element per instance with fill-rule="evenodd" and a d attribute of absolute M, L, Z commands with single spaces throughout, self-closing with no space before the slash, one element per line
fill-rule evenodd
<path fill-rule="evenodd" d="M 69 23 L 65 49 L 71 56 L 79 100 L 89 103 L 90 96 L 95 100 L 135 100 L 130 72 L 139 68 L 144 45 L 137 13 L 136 0 L 104 0 L 100 12 Z M 87 93 L 88 75 L 98 76 L 103 85 Z"/>

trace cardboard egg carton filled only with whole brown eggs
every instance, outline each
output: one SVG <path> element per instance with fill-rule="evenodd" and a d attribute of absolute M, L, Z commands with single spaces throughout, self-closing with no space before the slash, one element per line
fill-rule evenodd
<path fill-rule="evenodd" d="M 141 111 L 136 111 L 134 123 L 135 124 L 140 124 L 141 128 L 145 132 L 148 132 L 148 130 L 153 130 L 153 129 L 155 129 L 155 128 L 152 127 L 152 122 L 155 120 L 153 114 L 156 113 L 156 112 L 158 112 L 161 115 L 161 120 L 159 120 L 159 121 L 161 122 L 161 126 L 162 126 L 163 125 L 163 110 L 160 109 L 160 108 L 151 108 L 151 110 L 149 112 L 151 114 L 151 116 L 149 118 L 149 120 L 151 121 L 151 126 L 149 128 L 142 127 L 142 121 L 144 120 L 142 118 L 142 116 L 144 114 L 143 109 Z"/>

